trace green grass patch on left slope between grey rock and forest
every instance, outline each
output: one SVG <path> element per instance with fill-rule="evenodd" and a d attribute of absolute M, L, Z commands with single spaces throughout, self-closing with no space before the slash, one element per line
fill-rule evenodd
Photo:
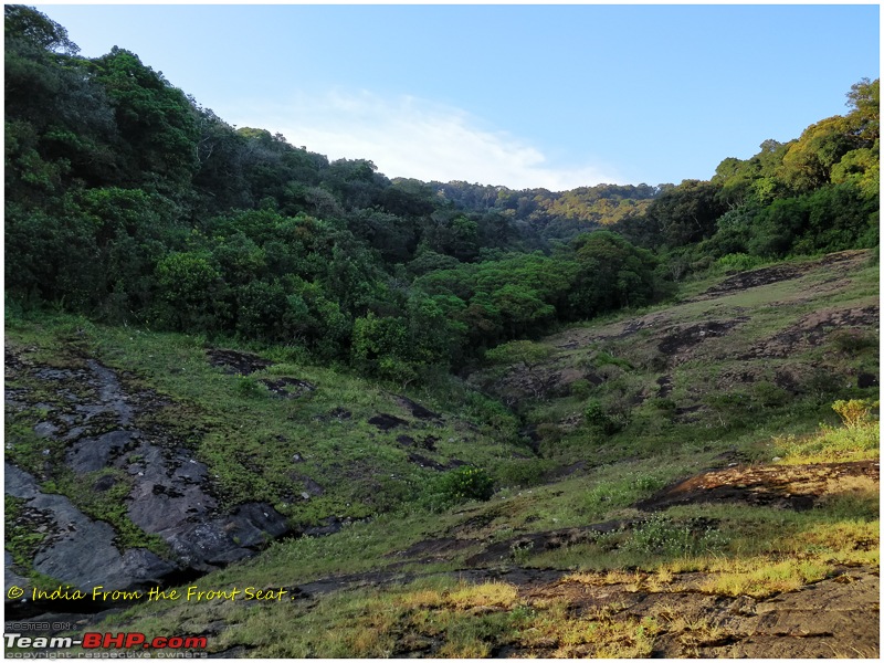
<path fill-rule="evenodd" d="M 436 440 L 434 451 L 420 450 L 420 454 L 441 465 L 456 457 L 478 467 L 501 463 L 505 470 L 512 466 L 513 451 L 522 449 L 514 444 L 512 415 L 494 412 L 493 425 L 482 421 L 483 413 L 494 409 L 483 397 L 471 398 L 472 407 L 464 412 L 441 410 L 440 419 L 430 423 L 412 415 L 393 394 L 357 376 L 292 358 L 248 377 L 228 375 L 209 366 L 201 336 L 38 315 L 12 320 L 7 343 L 27 348 L 29 361 L 50 366 L 82 369 L 83 360 L 76 357 L 88 354 L 120 371 L 128 392 L 155 391 L 170 402 L 141 412 L 135 424 L 162 429 L 176 444 L 190 448 L 209 466 L 223 506 L 266 501 L 303 525 L 318 524 L 329 515 L 376 516 L 414 501 L 436 471 L 409 460 L 410 452 L 398 442 L 403 433 L 418 442 Z M 238 344 L 222 345 L 235 349 Z M 278 356 L 280 350 L 269 354 Z M 278 398 L 260 382 L 271 377 L 306 380 L 316 389 L 295 399 Z M 28 390 L 33 402 L 64 404 L 51 400 L 51 389 L 24 371 L 10 386 Z M 422 399 L 408 396 L 436 407 L 423 394 Z M 346 410 L 347 417 L 329 414 L 338 409 Z M 368 419 L 381 412 L 407 424 L 380 431 Z M 63 465 L 64 444 L 33 434 L 33 428 L 46 420 L 44 412 L 31 408 L 11 417 L 9 452 L 14 462 L 38 472 L 44 466 L 44 449 L 50 449 L 54 465 Z M 293 462 L 295 456 L 302 462 Z M 303 498 L 307 481 L 322 486 L 323 495 Z"/>

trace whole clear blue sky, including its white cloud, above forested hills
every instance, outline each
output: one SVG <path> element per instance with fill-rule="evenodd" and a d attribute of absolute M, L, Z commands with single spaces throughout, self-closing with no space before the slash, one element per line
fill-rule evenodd
<path fill-rule="evenodd" d="M 877 4 L 35 7 L 236 126 L 512 188 L 708 179 L 880 66 Z"/>

